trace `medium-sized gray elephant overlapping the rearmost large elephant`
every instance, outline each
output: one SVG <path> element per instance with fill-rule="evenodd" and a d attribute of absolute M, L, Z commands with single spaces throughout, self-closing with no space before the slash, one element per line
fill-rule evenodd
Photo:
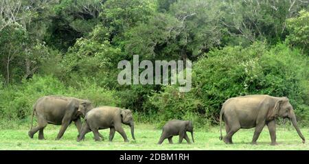
<path fill-rule="evenodd" d="M 78 137 L 78 141 L 82 140 L 85 134 L 93 132 L 95 141 L 101 141 L 100 133 L 98 130 L 110 128 L 109 141 L 113 141 L 115 131 L 122 135 L 125 142 L 128 142 L 126 132 L 122 128 L 122 124 L 130 126 L 131 134 L 134 137 L 134 120 L 131 110 L 122 109 L 111 106 L 100 106 L 93 108 L 86 117 L 85 123 L 82 126 L 82 131 Z"/>

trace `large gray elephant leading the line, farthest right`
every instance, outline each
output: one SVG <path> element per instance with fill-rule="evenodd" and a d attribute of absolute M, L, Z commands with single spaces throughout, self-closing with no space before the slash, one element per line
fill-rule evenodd
<path fill-rule="evenodd" d="M 221 130 L 222 117 L 227 132 L 227 135 L 223 138 Z M 305 143 L 305 138 L 297 126 L 293 106 L 288 98 L 269 95 L 247 95 L 227 99 L 220 112 L 220 140 L 223 139 L 225 143 L 233 143 L 231 137 L 240 128 L 255 127 L 252 143 L 256 144 L 260 132 L 267 125 L 271 135 L 271 145 L 276 145 L 275 119 L 277 117 L 289 118 L 299 137 Z"/>

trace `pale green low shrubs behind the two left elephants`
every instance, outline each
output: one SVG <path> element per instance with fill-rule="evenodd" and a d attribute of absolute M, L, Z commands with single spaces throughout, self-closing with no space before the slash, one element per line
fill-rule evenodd
<path fill-rule="evenodd" d="M 23 80 L 20 85 L 9 85 L 0 92 L 0 119 L 16 121 L 27 119 L 32 114 L 32 106 L 44 95 L 64 95 L 91 99 L 94 106 L 115 106 L 117 97 L 95 83 L 86 80 L 75 87 L 65 86 L 53 76 L 34 76 L 31 80 Z"/>

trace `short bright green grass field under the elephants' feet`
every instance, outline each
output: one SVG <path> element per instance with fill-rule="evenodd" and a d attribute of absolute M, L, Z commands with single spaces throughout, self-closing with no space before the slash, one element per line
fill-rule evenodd
<path fill-rule="evenodd" d="M 188 145 L 185 140 L 178 144 L 179 137 L 174 137 L 174 144 L 169 144 L 166 139 L 162 145 L 157 145 L 161 130 L 149 124 L 137 124 L 135 128 L 136 141 L 130 137 L 129 128 L 125 127 L 126 134 L 130 140 L 124 143 L 120 134 L 116 132 L 113 142 L 107 140 L 109 130 L 100 130 L 105 140 L 95 142 L 92 132 L 86 135 L 86 139 L 76 142 L 78 134 L 75 126 L 71 125 L 60 141 L 55 141 L 60 126 L 47 126 L 45 128 L 45 139 L 38 140 L 38 133 L 34 139 L 27 136 L 28 129 L 0 130 L 0 150 L 309 150 L 309 143 L 301 143 L 297 132 L 293 128 L 277 128 L 277 142 L 279 145 L 269 145 L 271 139 L 267 127 L 262 131 L 258 139 L 258 145 L 251 145 L 253 130 L 240 130 L 233 137 L 233 145 L 226 145 L 220 141 L 219 128 L 207 130 L 196 130 L 195 143 Z M 224 131 L 224 130 L 223 130 Z M 308 139 L 309 129 L 301 128 L 304 137 Z M 225 134 L 225 132 L 223 133 Z M 190 136 L 190 133 L 188 133 Z"/>

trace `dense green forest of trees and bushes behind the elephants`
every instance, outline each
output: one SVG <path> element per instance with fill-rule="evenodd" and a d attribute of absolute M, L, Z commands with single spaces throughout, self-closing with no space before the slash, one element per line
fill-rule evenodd
<path fill-rule="evenodd" d="M 0 124 L 43 95 L 130 108 L 139 122 L 216 125 L 222 103 L 286 96 L 309 122 L 306 0 L 0 0 Z M 191 60 L 192 89 L 120 85 L 120 60 Z"/>

